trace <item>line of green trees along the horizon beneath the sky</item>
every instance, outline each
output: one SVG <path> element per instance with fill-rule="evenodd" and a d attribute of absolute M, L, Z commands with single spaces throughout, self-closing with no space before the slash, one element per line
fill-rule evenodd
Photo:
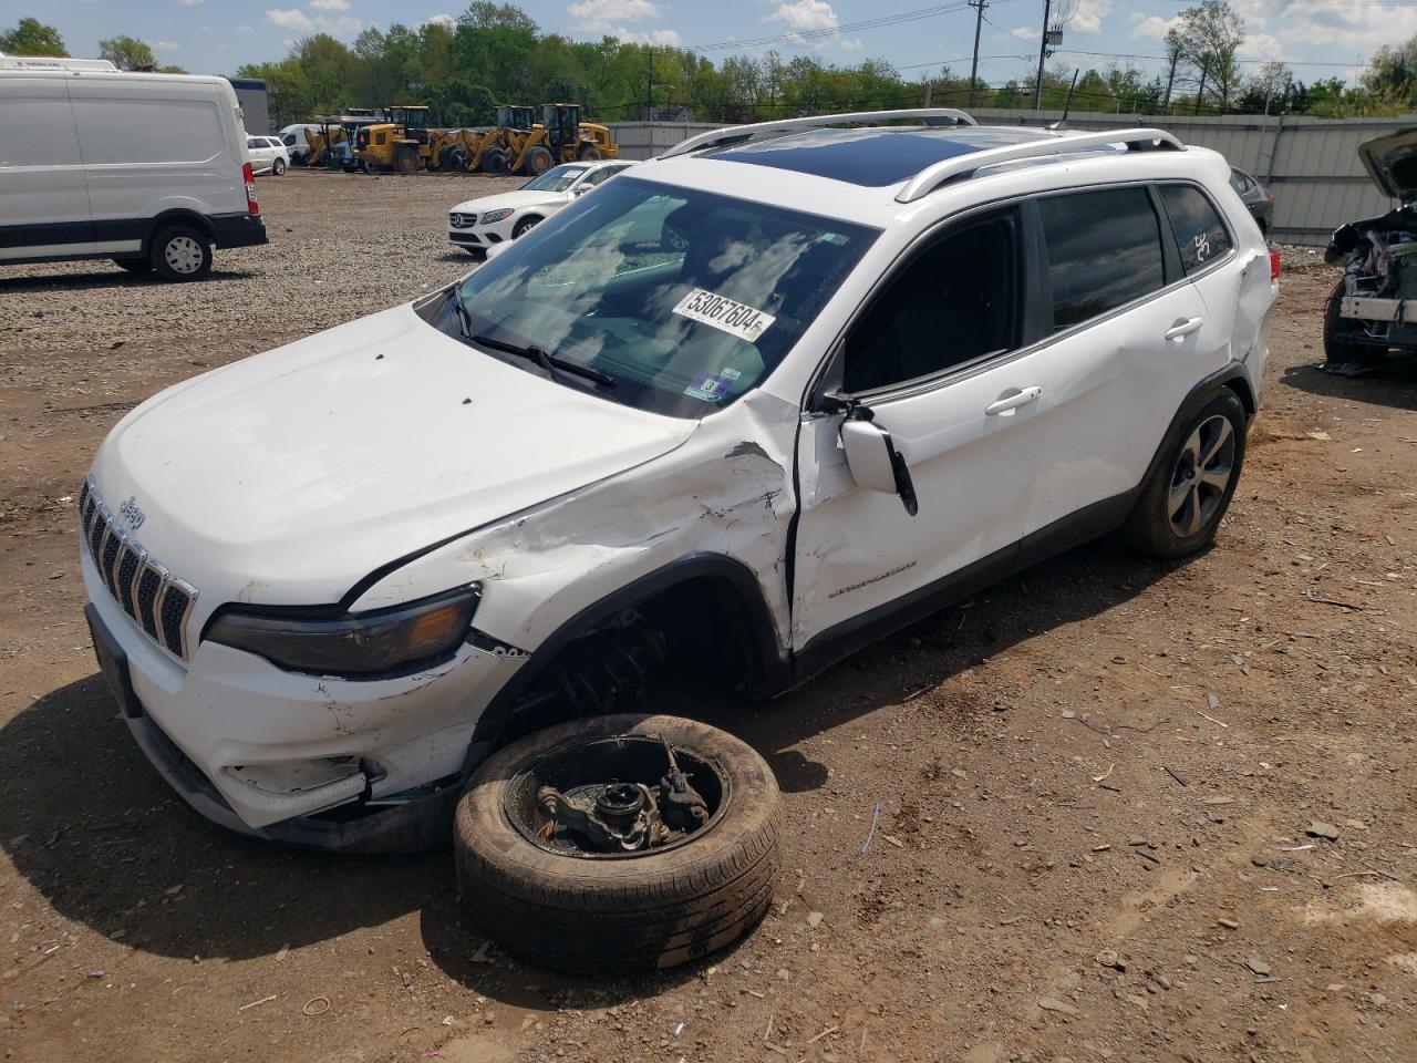
<path fill-rule="evenodd" d="M 1247 72 L 1238 58 L 1244 20 L 1226 0 L 1202 0 L 1166 35 L 1166 67 L 1144 77 L 1115 61 L 1074 69 L 1057 55 L 1046 67 L 1041 106 L 1166 113 L 1304 113 L 1323 118 L 1396 115 L 1417 108 L 1417 37 L 1380 50 L 1359 85 L 1340 78 L 1304 82 L 1284 62 Z M 37 18 L 0 31 L 0 51 L 67 55 L 60 33 Z M 101 58 L 123 69 L 164 69 L 132 37 L 99 43 Z M 370 27 L 351 44 L 313 34 L 269 62 L 235 75 L 266 82 L 276 125 L 350 106 L 427 103 L 436 125 L 490 123 L 499 103 L 580 103 L 604 122 L 747 122 L 833 111 L 921 106 L 1029 108 L 1034 79 L 971 82 L 948 67 L 907 79 L 884 60 L 854 65 L 812 54 L 728 55 L 604 37 L 580 41 L 541 27 L 513 4 L 475 0 L 455 20 Z"/>

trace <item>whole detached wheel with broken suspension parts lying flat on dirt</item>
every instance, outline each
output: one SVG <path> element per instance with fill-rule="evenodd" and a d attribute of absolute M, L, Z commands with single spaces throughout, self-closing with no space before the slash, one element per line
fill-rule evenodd
<path fill-rule="evenodd" d="M 453 823 L 462 903 L 540 967 L 674 967 L 767 913 L 779 804 L 762 757 L 716 727 L 639 714 L 550 727 L 468 782 Z"/>

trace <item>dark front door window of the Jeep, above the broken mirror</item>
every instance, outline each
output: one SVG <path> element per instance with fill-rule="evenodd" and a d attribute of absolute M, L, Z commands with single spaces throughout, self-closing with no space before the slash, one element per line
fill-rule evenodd
<path fill-rule="evenodd" d="M 968 221 L 920 252 L 846 339 L 842 387 L 870 391 L 1019 344 L 1015 211 Z"/>

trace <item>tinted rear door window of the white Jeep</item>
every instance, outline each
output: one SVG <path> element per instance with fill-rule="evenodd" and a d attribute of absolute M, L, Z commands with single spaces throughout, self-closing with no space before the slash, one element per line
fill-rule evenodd
<path fill-rule="evenodd" d="M 1053 330 L 1068 329 L 1165 283 L 1161 225 L 1145 189 L 1039 200 L 1053 289 Z"/>

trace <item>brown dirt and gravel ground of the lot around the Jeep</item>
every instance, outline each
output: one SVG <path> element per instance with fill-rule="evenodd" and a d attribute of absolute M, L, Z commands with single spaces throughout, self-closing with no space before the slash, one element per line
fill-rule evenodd
<path fill-rule="evenodd" d="M 1308 252 L 1216 550 L 1078 550 L 778 704 L 659 706 L 786 794 L 777 909 L 726 954 L 553 977 L 446 853 L 279 850 L 169 792 L 81 618 L 89 455 L 167 384 L 455 276 L 444 211 L 490 184 L 262 180 L 271 245 L 203 285 L 0 269 L 7 1059 L 1414 1059 L 1417 366 L 1316 369 Z"/>

